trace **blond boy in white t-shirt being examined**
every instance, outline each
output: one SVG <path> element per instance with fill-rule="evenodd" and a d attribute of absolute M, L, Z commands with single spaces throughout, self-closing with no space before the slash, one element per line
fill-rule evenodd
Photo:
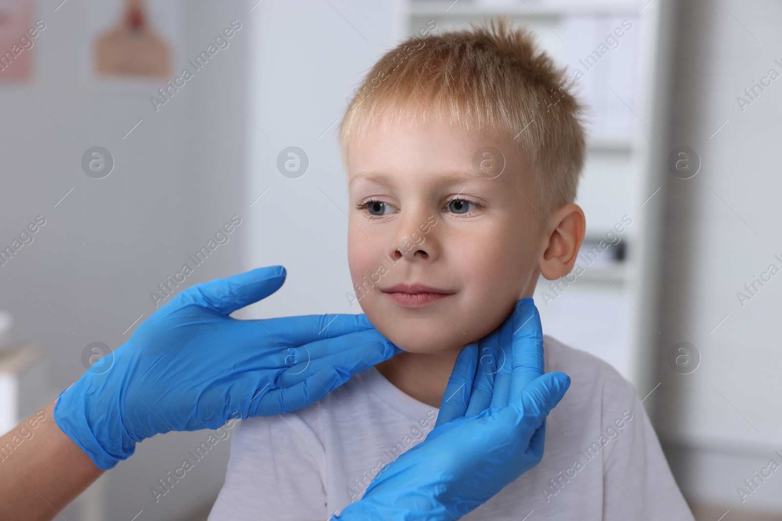
<path fill-rule="evenodd" d="M 210 519 L 322 520 L 361 498 L 432 430 L 461 348 L 576 261 L 585 137 L 564 71 L 504 19 L 415 40 L 368 73 L 340 130 L 356 298 L 405 352 L 306 409 L 244 422 Z M 543 459 L 464 519 L 692 519 L 633 387 L 551 337 L 544 348 L 572 384 Z"/>

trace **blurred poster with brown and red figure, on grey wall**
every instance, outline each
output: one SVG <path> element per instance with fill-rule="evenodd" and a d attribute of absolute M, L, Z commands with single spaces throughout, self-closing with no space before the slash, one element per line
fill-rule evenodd
<path fill-rule="evenodd" d="M 2 2 L 2 0 L 0 0 Z M 181 36 L 179 2 L 89 0 L 84 75 L 95 87 L 145 91 L 171 76 Z M 156 87 L 155 87 L 156 88 Z"/>

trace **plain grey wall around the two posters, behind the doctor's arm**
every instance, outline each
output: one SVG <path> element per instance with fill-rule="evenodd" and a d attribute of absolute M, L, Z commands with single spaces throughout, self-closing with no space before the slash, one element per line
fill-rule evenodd
<path fill-rule="evenodd" d="M 245 104 L 245 57 L 253 27 L 245 2 L 183 2 L 182 39 L 175 44 L 184 55 L 200 52 L 232 19 L 241 20 L 244 29 L 156 113 L 149 102 L 154 91 L 121 94 L 85 84 L 81 41 L 89 30 L 89 5 L 66 2 L 55 12 L 57 5 L 37 5 L 37 18 L 47 27 L 33 48 L 34 80 L 0 84 L 0 244 L 12 241 L 35 216 L 47 219 L 34 242 L 0 268 L 0 308 L 16 319 L 13 340 L 45 348 L 48 400 L 84 372 L 84 346 L 124 343 L 132 332 L 123 334 L 127 327 L 154 311 L 149 293 L 157 284 L 232 214 L 244 216 L 246 119 L 217 87 L 237 105 Z M 182 66 L 174 62 L 174 70 Z M 143 121 L 123 139 L 138 120 Z M 81 155 L 94 145 L 108 148 L 116 161 L 102 180 L 81 171 Z M 74 191 L 55 208 L 71 187 Z M 188 283 L 241 271 L 242 237 L 246 227 L 195 269 Z M 27 401 L 22 412 L 42 405 Z M 133 459 L 121 462 L 91 491 L 96 506 L 81 512 L 76 504 L 64 516 L 82 519 L 90 510 L 93 517 L 84 519 L 131 519 L 143 509 L 138 519 L 176 519 L 197 507 L 221 486 L 217 477 L 224 473 L 227 446 L 215 447 L 187 482 L 157 505 L 150 488 L 181 466 L 188 449 L 207 434 L 167 434 L 139 444 Z"/>

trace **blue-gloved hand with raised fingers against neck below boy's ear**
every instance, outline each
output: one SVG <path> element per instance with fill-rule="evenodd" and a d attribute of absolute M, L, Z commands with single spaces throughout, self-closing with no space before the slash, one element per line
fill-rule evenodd
<path fill-rule="evenodd" d="M 543 334 L 532 298 L 518 302 L 494 333 L 481 344 L 499 340 L 500 353 L 510 355 L 508 363 L 500 366 L 501 358 L 495 359 L 496 372 L 482 370 L 472 350 L 460 356 L 453 376 L 454 383 L 472 383 L 479 390 L 472 399 L 461 401 L 465 413 L 479 404 L 490 405 L 489 409 L 436 426 L 425 441 L 382 469 L 363 498 L 334 519 L 458 519 L 540 462 L 546 416 L 565 395 L 570 378 L 559 372 L 543 374 Z M 504 342 L 508 334 L 511 346 Z M 471 364 L 478 368 L 473 369 L 472 382 Z M 491 380 L 489 400 L 484 391 Z"/>

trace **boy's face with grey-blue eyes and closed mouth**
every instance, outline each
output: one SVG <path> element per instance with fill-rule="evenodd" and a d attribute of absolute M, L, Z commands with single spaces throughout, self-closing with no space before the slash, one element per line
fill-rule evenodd
<path fill-rule="evenodd" d="M 511 142 L 403 121 L 378 120 L 348 150 L 350 276 L 361 309 L 394 344 L 458 349 L 533 294 L 543 246 L 533 175 Z M 497 177 L 473 167 L 486 146 L 504 156 Z"/>

